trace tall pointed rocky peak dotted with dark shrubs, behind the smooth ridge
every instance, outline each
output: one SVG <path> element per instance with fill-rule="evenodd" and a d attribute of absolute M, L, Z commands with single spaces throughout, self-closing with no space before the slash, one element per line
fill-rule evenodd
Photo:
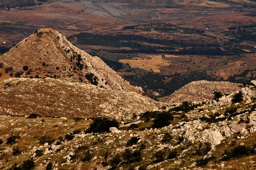
<path fill-rule="evenodd" d="M 129 85 L 100 58 L 78 49 L 52 28 L 42 28 L 23 39 L 0 56 L 2 76 L 51 77 L 71 82 L 84 82 L 101 88 L 141 93 Z"/>

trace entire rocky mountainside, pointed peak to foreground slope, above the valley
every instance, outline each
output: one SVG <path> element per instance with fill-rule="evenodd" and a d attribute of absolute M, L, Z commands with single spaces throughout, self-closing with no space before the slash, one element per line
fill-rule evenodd
<path fill-rule="evenodd" d="M 0 169 L 256 168 L 256 81 L 195 81 L 158 102 L 50 28 L 0 67 Z"/>

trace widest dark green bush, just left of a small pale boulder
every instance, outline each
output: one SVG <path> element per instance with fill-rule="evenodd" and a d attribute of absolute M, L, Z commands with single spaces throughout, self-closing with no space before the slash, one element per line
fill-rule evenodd
<path fill-rule="evenodd" d="M 116 120 L 109 120 L 107 118 L 95 118 L 93 123 L 85 132 L 103 133 L 108 132 L 111 127 L 119 128 L 119 123 Z"/>

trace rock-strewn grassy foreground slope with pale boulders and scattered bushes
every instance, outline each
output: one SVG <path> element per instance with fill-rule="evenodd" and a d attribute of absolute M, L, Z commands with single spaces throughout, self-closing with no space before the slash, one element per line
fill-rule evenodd
<path fill-rule="evenodd" d="M 92 120 L 2 114 L 1 169 L 23 166 L 31 158 L 35 169 L 45 169 L 50 162 L 56 170 L 255 169 L 255 88 L 240 91 L 244 100 L 239 103 L 232 100 L 236 91 L 219 102 L 134 111 L 132 118 L 119 120 L 118 129 L 100 134 L 85 132 Z M 161 112 L 174 119 L 156 128 L 154 115 Z"/>

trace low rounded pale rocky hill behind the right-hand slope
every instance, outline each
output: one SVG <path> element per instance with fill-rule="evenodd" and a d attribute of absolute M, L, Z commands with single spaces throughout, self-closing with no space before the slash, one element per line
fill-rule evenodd
<path fill-rule="evenodd" d="M 222 94 L 230 94 L 239 90 L 239 85 L 228 81 L 193 81 L 175 91 L 170 96 L 159 98 L 159 101 L 171 104 L 182 103 L 183 101 L 211 100 L 214 91 L 220 91 Z"/>

